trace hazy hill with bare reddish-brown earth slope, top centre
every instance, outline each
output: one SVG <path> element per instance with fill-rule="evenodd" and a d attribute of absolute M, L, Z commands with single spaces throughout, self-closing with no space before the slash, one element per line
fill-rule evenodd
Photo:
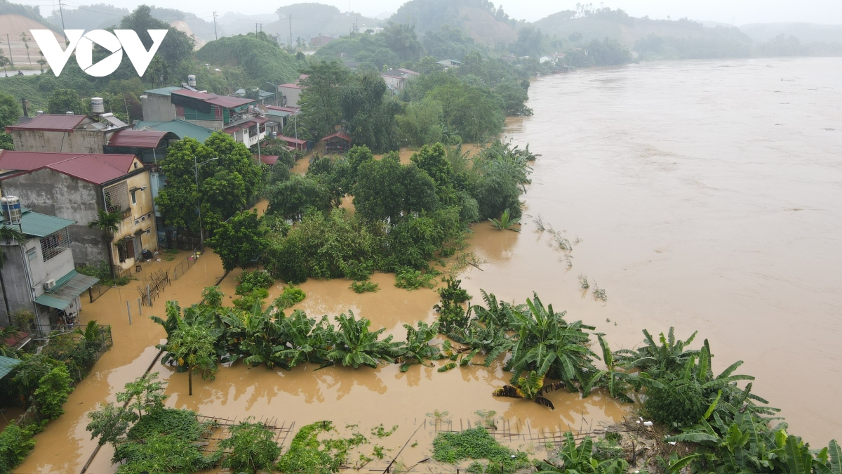
<path fill-rule="evenodd" d="M 488 46 L 510 43 L 518 37 L 517 21 L 488 0 L 410 0 L 389 21 L 415 24 L 418 35 L 450 24 Z"/>

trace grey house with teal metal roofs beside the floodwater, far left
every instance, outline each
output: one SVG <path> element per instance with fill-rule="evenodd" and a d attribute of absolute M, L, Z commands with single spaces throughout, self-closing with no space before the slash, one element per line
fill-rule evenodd
<path fill-rule="evenodd" d="M 20 245 L 0 241 L 7 258 L 0 269 L 7 297 L 0 304 L 0 326 L 11 324 L 10 314 L 19 310 L 35 313 L 39 334 L 72 326 L 82 308 L 79 295 L 99 281 L 75 270 L 68 228 L 76 222 L 34 213 L 19 204 L 17 212 L 10 210 L 4 206 L 0 225 L 18 227 L 27 240 Z"/>

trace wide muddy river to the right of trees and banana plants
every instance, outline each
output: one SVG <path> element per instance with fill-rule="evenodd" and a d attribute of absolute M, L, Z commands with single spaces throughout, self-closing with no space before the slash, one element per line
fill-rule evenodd
<path fill-rule="evenodd" d="M 535 290 L 616 347 L 647 328 L 708 338 L 814 445 L 842 437 L 842 58 L 653 62 L 532 83 L 508 128 L 542 154 L 525 218 L 468 286 Z M 562 256 L 558 251 L 555 256 Z M 595 278 L 607 304 L 582 296 Z M 606 319 L 611 322 L 606 322 Z M 616 326 L 614 324 L 616 323 Z"/>

